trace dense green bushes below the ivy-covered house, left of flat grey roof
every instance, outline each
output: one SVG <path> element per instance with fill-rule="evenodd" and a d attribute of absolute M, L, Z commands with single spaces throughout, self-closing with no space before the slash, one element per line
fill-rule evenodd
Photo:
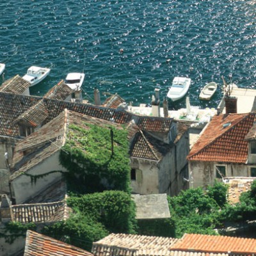
<path fill-rule="evenodd" d="M 67 221 L 45 227 L 43 233 L 90 250 L 93 241 L 111 232 L 134 233 L 135 207 L 124 191 L 104 191 L 81 197 L 71 196 L 68 205 L 74 214 Z"/>

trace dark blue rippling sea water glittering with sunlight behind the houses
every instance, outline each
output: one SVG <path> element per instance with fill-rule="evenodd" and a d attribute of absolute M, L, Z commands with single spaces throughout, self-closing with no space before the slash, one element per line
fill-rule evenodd
<path fill-rule="evenodd" d="M 5 79 L 23 76 L 31 65 L 51 68 L 31 88 L 34 95 L 84 70 L 84 97 L 97 87 L 138 105 L 150 103 L 154 88 L 162 98 L 173 77 L 188 76 L 191 104 L 216 107 L 221 86 L 207 103 L 198 99 L 200 89 L 210 81 L 221 85 L 228 74 L 238 86 L 254 88 L 255 50 L 254 0 L 0 1 Z"/>

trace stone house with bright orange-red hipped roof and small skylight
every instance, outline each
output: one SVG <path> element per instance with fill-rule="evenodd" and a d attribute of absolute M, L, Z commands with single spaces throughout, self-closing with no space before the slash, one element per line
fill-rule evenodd
<path fill-rule="evenodd" d="M 255 113 L 214 116 L 188 155 L 189 186 L 256 177 Z"/>

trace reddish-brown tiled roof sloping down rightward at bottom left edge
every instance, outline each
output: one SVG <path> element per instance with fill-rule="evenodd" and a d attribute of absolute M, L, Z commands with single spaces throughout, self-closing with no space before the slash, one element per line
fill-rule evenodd
<path fill-rule="evenodd" d="M 52 237 L 27 231 L 24 256 L 93 256 L 92 253 Z"/>

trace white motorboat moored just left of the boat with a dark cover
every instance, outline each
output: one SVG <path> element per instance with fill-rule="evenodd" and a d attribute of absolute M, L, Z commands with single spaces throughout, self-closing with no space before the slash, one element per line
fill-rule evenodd
<path fill-rule="evenodd" d="M 42 80 L 45 79 L 50 73 L 50 68 L 41 68 L 32 66 L 28 68 L 28 72 L 22 78 L 31 83 L 30 86 L 34 86 L 35 84 L 40 83 Z"/>

